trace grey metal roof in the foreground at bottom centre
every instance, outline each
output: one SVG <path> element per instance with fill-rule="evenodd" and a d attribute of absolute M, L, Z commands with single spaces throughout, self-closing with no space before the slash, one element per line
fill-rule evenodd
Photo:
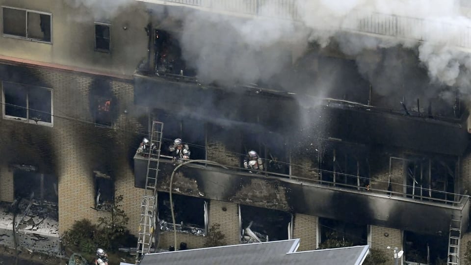
<path fill-rule="evenodd" d="M 139 265 L 361 265 L 368 246 L 296 252 L 299 239 L 145 255 Z"/>

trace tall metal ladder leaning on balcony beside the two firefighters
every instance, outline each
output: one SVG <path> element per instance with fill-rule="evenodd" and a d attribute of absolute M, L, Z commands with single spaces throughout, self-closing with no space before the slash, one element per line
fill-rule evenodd
<path fill-rule="evenodd" d="M 146 185 L 141 203 L 141 213 L 136 248 L 136 265 L 139 264 L 145 254 L 150 253 L 153 233 L 155 229 L 158 229 L 156 224 L 158 215 L 157 175 L 159 171 L 158 164 L 160 158 L 160 148 L 162 147 L 162 132 L 163 123 L 154 121 L 152 123 L 151 138 L 149 142 Z M 157 147 L 155 154 L 153 154 L 153 146 Z"/>

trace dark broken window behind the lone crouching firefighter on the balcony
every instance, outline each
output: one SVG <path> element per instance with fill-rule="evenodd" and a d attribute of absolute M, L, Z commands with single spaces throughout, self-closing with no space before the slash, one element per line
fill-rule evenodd
<path fill-rule="evenodd" d="M 289 174 L 288 146 L 284 137 L 274 132 L 244 132 L 241 167 L 248 152 L 254 150 L 263 160 L 264 171 Z"/>

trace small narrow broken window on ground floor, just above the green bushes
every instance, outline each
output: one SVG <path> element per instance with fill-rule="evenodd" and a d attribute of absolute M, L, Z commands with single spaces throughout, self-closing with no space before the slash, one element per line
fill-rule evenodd
<path fill-rule="evenodd" d="M 93 171 L 95 180 L 95 209 L 111 211 L 114 200 L 114 182 L 110 176 Z"/>

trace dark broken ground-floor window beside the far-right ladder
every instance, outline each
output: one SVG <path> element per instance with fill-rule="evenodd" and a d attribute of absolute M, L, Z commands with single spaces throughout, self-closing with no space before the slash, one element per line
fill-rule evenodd
<path fill-rule="evenodd" d="M 407 264 L 446 263 L 448 238 L 404 231 L 404 259 Z"/>

